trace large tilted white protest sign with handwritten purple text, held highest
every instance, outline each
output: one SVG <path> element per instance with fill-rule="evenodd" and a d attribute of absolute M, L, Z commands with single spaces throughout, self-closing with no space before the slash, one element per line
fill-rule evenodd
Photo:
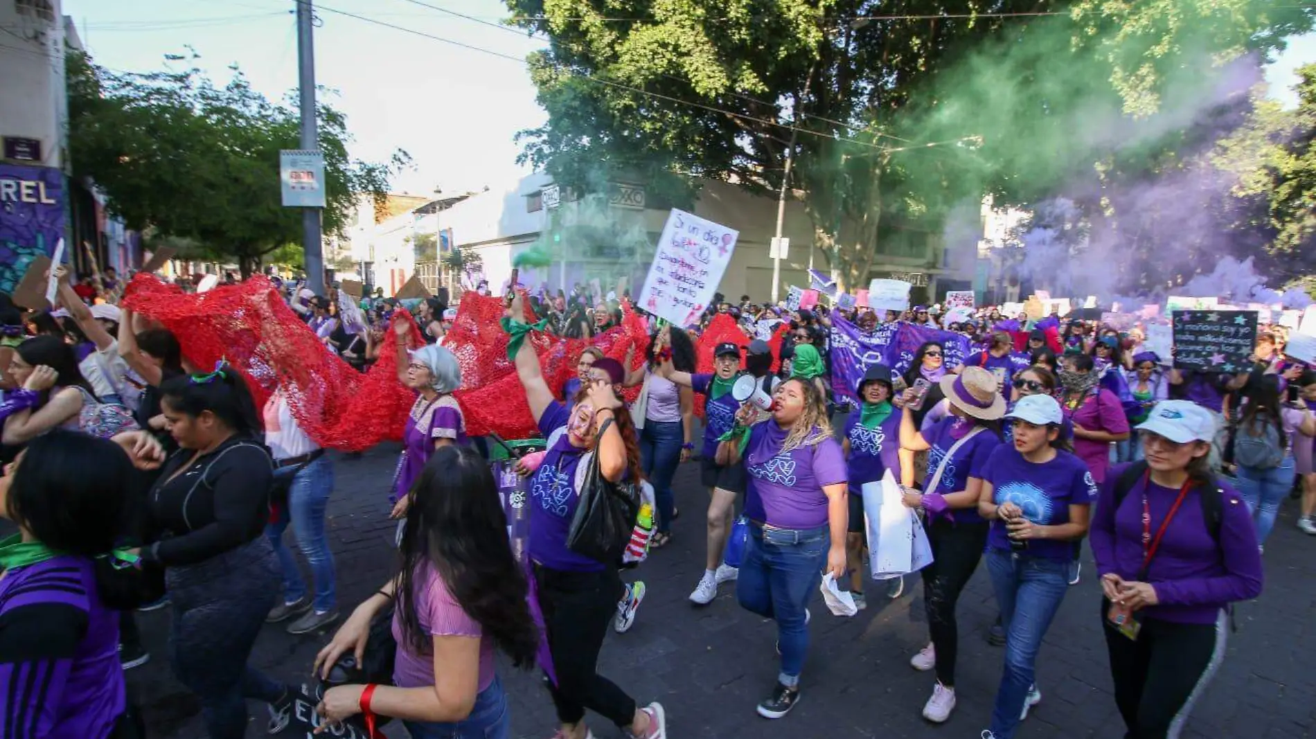
<path fill-rule="evenodd" d="M 737 230 L 672 208 L 640 291 L 640 308 L 676 326 L 694 323 L 722 281 L 737 237 Z"/>

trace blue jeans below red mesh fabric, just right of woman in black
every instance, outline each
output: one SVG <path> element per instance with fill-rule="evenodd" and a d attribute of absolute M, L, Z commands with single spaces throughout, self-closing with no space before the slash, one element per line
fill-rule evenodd
<path fill-rule="evenodd" d="M 333 554 L 329 552 L 329 542 L 325 538 L 325 508 L 329 505 L 329 493 L 333 492 L 333 463 L 326 455 L 320 455 L 300 471 L 292 465 L 276 469 L 274 475 L 276 479 L 296 475 L 292 487 L 288 488 L 288 504 L 279 512 L 279 519 L 265 527 L 265 534 L 274 546 L 274 554 L 279 555 L 279 565 L 283 569 L 283 600 L 291 604 L 307 594 L 307 584 L 301 580 L 297 560 L 283 543 L 283 533 L 291 522 L 297 536 L 297 547 L 311 564 L 311 575 L 316 584 L 315 609 L 318 613 L 330 611 L 337 605 L 337 596 Z"/>

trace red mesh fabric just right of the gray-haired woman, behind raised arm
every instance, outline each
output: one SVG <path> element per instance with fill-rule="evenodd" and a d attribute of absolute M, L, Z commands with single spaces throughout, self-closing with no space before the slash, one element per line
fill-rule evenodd
<path fill-rule="evenodd" d="M 462 389 L 454 393 L 466 417 L 466 433 L 487 435 L 490 431 L 505 439 L 524 439 L 538 435 L 538 426 L 530 416 L 525 389 L 516 367 L 507 358 L 507 334 L 499 325 L 505 308 L 503 298 L 482 297 L 471 292 L 462 295 L 457 320 L 443 339 L 462 366 Z M 526 321 L 533 321 L 529 308 Z M 644 320 L 624 306 L 620 326 L 592 339 L 566 339 L 544 331 L 532 331 L 528 341 L 540 358 L 540 370 L 554 396 L 562 396 L 566 381 L 576 373 L 576 362 L 586 347 L 596 346 L 604 355 L 625 363 L 632 351 L 632 368 L 644 363 L 649 348 L 649 335 Z M 640 388 L 628 388 L 626 401 L 634 401 Z"/>

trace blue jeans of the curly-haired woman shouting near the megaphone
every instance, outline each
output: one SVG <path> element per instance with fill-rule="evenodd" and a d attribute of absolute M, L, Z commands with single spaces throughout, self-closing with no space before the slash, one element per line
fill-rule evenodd
<path fill-rule="evenodd" d="M 794 688 L 804 669 L 809 650 L 805 608 L 819 589 L 830 529 L 772 529 L 750 523 L 745 558 L 736 579 L 736 600 L 741 608 L 776 619 L 782 673 L 778 680 Z"/>

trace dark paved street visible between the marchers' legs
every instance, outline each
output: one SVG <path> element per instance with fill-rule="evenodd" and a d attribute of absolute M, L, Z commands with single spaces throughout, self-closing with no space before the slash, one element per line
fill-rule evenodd
<path fill-rule="evenodd" d="M 343 613 L 378 588 L 393 565 L 393 526 L 386 519 L 387 487 L 396 446 L 361 459 L 336 456 L 337 489 L 329 506 L 329 539 L 338 565 Z M 637 700 L 659 700 L 667 709 L 669 736 L 703 739 L 755 736 L 849 739 L 861 736 L 974 738 L 987 726 L 1001 671 L 1001 650 L 983 630 L 995 617 L 983 568 L 961 600 L 959 707 L 946 726 L 934 727 L 920 711 L 933 679 L 908 667 L 926 642 L 921 588 L 886 601 L 883 588 L 869 590 L 870 608 L 855 618 L 830 615 L 821 598 L 813 605 L 813 648 L 803 676 L 800 705 L 782 721 L 765 721 L 754 705 L 776 676 L 772 625 L 737 606 L 730 584 L 707 608 L 686 596 L 703 568 L 707 494 L 697 467 L 676 476 L 683 514 L 671 546 L 654 552 L 638 569 L 649 586 L 634 629 L 612 634 L 601 671 Z M 1316 539 L 1294 527 L 1292 501 L 1267 544 L 1266 590 L 1238 609 L 1238 632 L 1229 656 L 1195 711 L 1186 736 L 1279 739 L 1316 736 L 1316 623 L 1313 575 Z M 290 534 L 291 536 L 291 534 Z M 1088 560 L 1090 561 L 1090 560 Z M 1020 736 L 1123 736 L 1111 697 L 1098 617 L 1099 589 L 1084 565 L 1048 635 L 1040 659 L 1042 702 Z M 134 697 L 145 706 L 150 736 L 201 739 L 196 701 L 170 675 L 164 647 L 168 610 L 139 614 L 153 660 L 129 673 Z M 254 663 L 276 677 L 304 681 L 328 635 L 291 636 L 268 626 L 257 643 Z M 501 669 L 512 710 L 512 735 L 546 738 L 555 728 L 553 705 L 532 673 Z M 265 736 L 265 709 L 251 702 L 257 721 L 247 736 Z M 620 732 L 592 717 L 599 739 Z M 404 732 L 390 726 L 391 736 Z"/>

